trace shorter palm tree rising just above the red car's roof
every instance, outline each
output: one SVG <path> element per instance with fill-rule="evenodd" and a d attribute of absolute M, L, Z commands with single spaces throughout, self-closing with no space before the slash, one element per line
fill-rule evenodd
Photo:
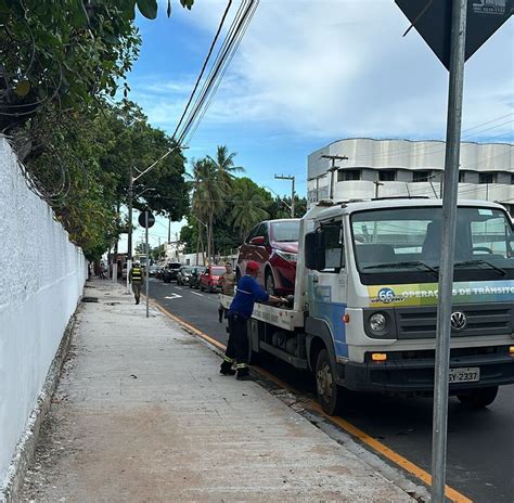
<path fill-rule="evenodd" d="M 234 207 L 232 210 L 232 221 L 235 229 L 239 230 L 240 237 L 244 238 L 252 228 L 266 220 L 269 215 L 266 211 L 266 202 L 258 188 L 250 183 L 239 184 L 234 193 Z"/>

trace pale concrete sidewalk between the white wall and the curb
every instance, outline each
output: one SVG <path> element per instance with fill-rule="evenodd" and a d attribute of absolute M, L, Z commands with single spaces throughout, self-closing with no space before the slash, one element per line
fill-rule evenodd
<path fill-rule="evenodd" d="M 413 501 L 158 310 L 88 286 L 22 501 Z"/>

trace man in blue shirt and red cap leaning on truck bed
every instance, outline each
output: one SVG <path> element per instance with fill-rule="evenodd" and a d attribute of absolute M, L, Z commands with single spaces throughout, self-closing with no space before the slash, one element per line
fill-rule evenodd
<path fill-rule="evenodd" d="M 246 263 L 246 274 L 240 279 L 235 288 L 235 297 L 229 308 L 229 341 L 221 363 L 220 373 L 234 375 L 237 381 L 250 379 L 248 372 L 248 336 L 247 321 L 252 317 L 256 300 L 281 304 L 284 299 L 269 295 L 255 280 L 259 265 L 249 260 Z M 236 363 L 234 371 L 233 363 Z"/>

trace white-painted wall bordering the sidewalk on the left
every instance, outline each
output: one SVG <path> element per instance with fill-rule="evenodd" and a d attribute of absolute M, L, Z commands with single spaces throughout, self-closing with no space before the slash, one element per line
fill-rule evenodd
<path fill-rule="evenodd" d="M 85 280 L 80 248 L 0 136 L 0 486 Z"/>

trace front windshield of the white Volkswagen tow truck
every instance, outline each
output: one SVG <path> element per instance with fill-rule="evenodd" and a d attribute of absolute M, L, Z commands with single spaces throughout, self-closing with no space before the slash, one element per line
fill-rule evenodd
<path fill-rule="evenodd" d="M 442 208 L 387 208 L 351 216 L 363 284 L 437 282 Z M 514 279 L 512 223 L 496 208 L 458 209 L 454 281 Z"/>

